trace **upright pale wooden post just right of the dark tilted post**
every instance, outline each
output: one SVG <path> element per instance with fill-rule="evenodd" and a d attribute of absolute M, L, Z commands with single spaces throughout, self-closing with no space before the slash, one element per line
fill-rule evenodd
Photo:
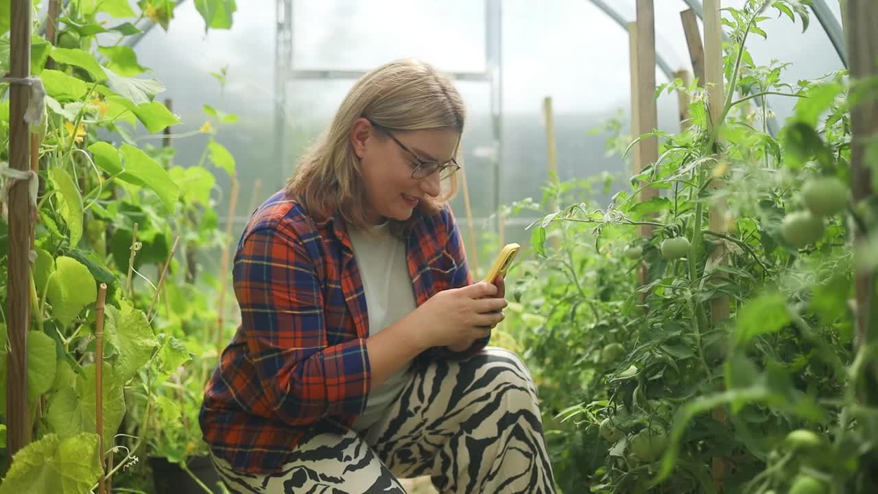
<path fill-rule="evenodd" d="M 725 91 L 723 81 L 723 37 L 722 24 L 720 17 L 721 0 L 705 0 L 704 1 L 704 77 L 705 85 L 708 88 L 708 101 L 710 107 L 711 128 L 716 128 L 722 124 L 719 119 L 723 113 L 723 105 L 725 105 Z M 734 88 L 730 88 L 734 91 Z M 717 142 L 719 139 L 717 138 Z M 708 149 L 710 151 L 710 149 Z M 722 156 L 717 155 L 717 163 Z M 713 186 L 723 186 L 722 177 L 713 177 Z M 726 200 L 715 200 L 710 206 L 709 225 L 710 229 L 716 232 L 726 231 Z M 714 259 L 725 258 L 725 248 L 722 244 L 716 245 L 716 249 L 712 253 Z M 722 261 L 721 261 L 722 262 Z M 729 297 L 723 296 L 710 301 L 710 320 L 716 327 L 716 324 L 729 317 Z M 716 407 L 712 412 L 713 418 L 717 422 L 725 423 L 725 410 L 723 407 Z M 727 463 L 723 457 L 713 458 L 711 465 L 711 473 L 717 492 L 723 491 L 723 481 L 727 473 Z"/>

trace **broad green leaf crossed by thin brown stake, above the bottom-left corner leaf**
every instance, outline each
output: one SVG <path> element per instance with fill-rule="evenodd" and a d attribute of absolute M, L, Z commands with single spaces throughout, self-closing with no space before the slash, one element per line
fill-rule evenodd
<path fill-rule="evenodd" d="M 82 432 L 97 432 L 95 365 L 83 367 L 85 377 L 76 378 L 76 388 L 61 389 L 54 395 L 47 420 L 62 438 Z M 125 415 L 125 395 L 113 367 L 104 363 L 104 451 L 111 447 L 113 436 Z"/>

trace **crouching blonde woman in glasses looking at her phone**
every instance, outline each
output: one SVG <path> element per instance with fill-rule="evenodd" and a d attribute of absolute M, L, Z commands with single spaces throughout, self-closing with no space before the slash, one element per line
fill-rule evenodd
<path fill-rule="evenodd" d="M 463 128 L 447 78 L 388 63 L 253 214 L 200 414 L 231 490 L 554 491 L 528 369 L 486 348 L 503 280 L 472 284 L 447 204 Z"/>

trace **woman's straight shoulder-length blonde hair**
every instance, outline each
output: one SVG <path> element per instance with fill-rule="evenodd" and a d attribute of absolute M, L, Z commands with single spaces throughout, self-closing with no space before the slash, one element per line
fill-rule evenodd
<path fill-rule="evenodd" d="M 398 131 L 464 130 L 464 102 L 447 76 L 426 62 L 402 59 L 385 63 L 361 77 L 350 89 L 332 123 L 299 160 L 286 192 L 322 221 L 336 211 L 349 226 L 363 227 L 365 193 L 360 160 L 350 143 L 354 122 L 366 117 Z M 460 146 L 455 151 L 457 163 Z M 457 193 L 457 176 L 435 198 L 421 200 L 419 214 L 435 213 Z M 416 218 L 416 214 L 409 222 Z"/>

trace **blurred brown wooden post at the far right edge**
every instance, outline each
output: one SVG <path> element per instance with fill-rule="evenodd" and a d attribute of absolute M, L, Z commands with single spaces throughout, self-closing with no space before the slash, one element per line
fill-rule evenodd
<path fill-rule="evenodd" d="M 874 0 L 847 0 L 845 13 L 845 36 L 848 67 L 851 82 L 878 76 L 878 4 Z M 851 185 L 854 203 L 874 196 L 871 172 L 866 162 L 866 146 L 869 140 L 878 135 L 878 99 L 852 105 L 851 108 L 853 142 L 851 149 Z M 874 206 L 873 206 L 874 207 Z M 867 241 L 866 232 L 856 229 L 854 242 L 862 245 Z M 854 263 L 856 264 L 856 263 Z M 878 335 L 869 331 L 875 326 L 875 273 L 859 269 L 854 283 L 857 299 L 857 345 L 866 345 Z M 871 315 L 870 315 L 871 312 Z M 869 320 L 869 317 L 872 320 Z M 873 372 L 875 367 L 871 367 Z M 875 375 L 874 377 L 878 377 Z M 867 403 L 876 403 L 878 397 L 871 396 Z"/>

